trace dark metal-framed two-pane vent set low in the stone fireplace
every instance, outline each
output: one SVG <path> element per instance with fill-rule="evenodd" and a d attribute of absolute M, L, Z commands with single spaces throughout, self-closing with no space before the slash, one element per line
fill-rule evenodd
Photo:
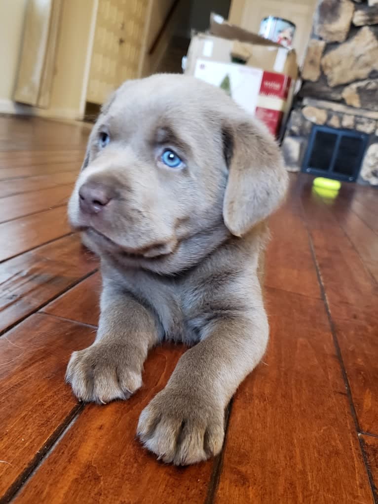
<path fill-rule="evenodd" d="M 313 125 L 302 171 L 338 180 L 356 180 L 368 135 Z"/>

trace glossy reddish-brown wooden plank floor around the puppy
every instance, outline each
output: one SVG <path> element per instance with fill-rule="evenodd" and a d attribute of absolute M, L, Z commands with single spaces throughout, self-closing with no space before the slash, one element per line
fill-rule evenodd
<path fill-rule="evenodd" d="M 0 118 L 0 501 L 374 502 L 378 191 L 343 184 L 332 201 L 292 175 L 272 218 L 269 350 L 232 401 L 221 456 L 175 468 L 135 432 L 180 346 L 151 352 L 127 402 L 83 406 L 64 383 L 98 320 L 98 263 L 65 208 L 87 136 L 80 125 Z"/>

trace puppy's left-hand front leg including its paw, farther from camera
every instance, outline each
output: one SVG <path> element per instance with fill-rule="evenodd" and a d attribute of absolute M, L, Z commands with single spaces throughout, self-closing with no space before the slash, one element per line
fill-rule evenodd
<path fill-rule="evenodd" d="M 105 284 L 96 339 L 72 354 L 66 382 L 81 401 L 128 399 L 142 385 L 143 363 L 157 339 L 153 315 L 130 295 Z"/>

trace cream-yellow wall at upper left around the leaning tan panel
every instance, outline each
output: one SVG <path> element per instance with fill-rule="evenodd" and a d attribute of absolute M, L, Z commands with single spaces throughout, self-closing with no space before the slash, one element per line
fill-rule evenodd
<path fill-rule="evenodd" d="M 12 100 L 28 0 L 0 0 L 0 113 L 81 118 L 85 108 L 97 0 L 64 0 L 48 108 Z"/>

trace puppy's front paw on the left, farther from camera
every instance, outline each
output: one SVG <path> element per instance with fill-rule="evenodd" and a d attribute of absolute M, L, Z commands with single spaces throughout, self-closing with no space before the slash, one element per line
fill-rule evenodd
<path fill-rule="evenodd" d="M 106 404 L 128 399 L 142 386 L 142 375 L 119 345 L 94 343 L 71 355 L 66 382 L 80 401 Z"/>

